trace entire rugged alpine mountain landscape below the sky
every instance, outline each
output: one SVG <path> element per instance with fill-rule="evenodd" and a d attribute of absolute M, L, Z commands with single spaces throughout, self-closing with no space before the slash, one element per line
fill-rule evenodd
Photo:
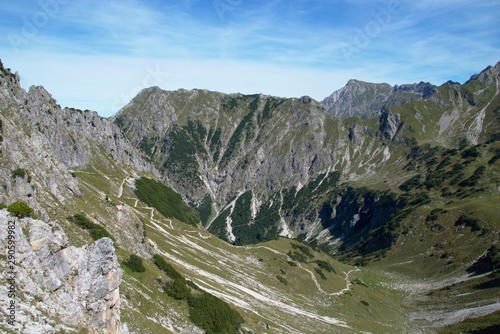
<path fill-rule="evenodd" d="M 499 73 L 322 102 L 151 87 L 103 118 L 0 65 L 0 328 L 213 332 L 209 293 L 235 333 L 498 329 Z"/>

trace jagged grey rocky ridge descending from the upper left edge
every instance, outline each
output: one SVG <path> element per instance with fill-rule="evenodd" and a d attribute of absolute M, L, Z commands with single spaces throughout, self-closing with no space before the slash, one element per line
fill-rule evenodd
<path fill-rule="evenodd" d="M 3 176 L 7 188 L 12 182 L 5 169 L 36 166 L 39 168 L 32 170 L 32 186 L 36 188 L 37 183 L 42 183 L 39 188 L 53 190 L 53 195 L 64 203 L 64 192 L 67 190 L 73 196 L 82 195 L 77 180 L 69 175 L 69 170 L 85 169 L 95 161 L 105 161 L 106 155 L 118 165 L 159 175 L 144 155 L 122 136 L 115 124 L 88 110 L 62 109 L 41 86 L 32 86 L 29 92 L 24 91 L 20 87 L 19 76 L 5 69 L 1 63 L 0 109 L 0 149 L 4 158 L 2 174 L 6 174 L 0 176 Z M 30 140 L 24 140 L 24 136 L 30 137 Z M 26 193 L 27 190 L 20 191 Z M 19 197 L 26 201 L 26 198 L 21 198 L 23 196 L 31 198 L 28 193 L 22 195 L 19 191 L 18 196 L 13 197 L 16 194 L 9 189 L 6 195 L 13 200 Z M 34 197 L 31 201 L 36 207 Z"/>

